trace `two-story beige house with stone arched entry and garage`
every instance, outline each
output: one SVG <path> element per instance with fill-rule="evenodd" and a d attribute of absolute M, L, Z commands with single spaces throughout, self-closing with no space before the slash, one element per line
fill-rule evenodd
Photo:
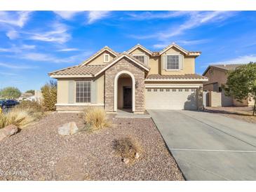
<path fill-rule="evenodd" d="M 106 111 L 131 109 L 192 109 L 202 107 L 203 82 L 195 74 L 198 51 L 175 43 L 160 52 L 137 45 L 123 53 L 102 48 L 88 60 L 49 73 L 58 80 L 58 111 L 79 111 L 88 106 Z"/>

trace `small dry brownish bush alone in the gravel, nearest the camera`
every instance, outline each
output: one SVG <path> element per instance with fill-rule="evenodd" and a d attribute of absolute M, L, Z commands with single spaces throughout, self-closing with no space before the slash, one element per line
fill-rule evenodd
<path fill-rule="evenodd" d="M 141 155 L 142 148 L 140 144 L 130 137 L 124 137 L 121 139 L 115 139 L 113 142 L 114 151 L 116 154 L 121 156 L 121 158 L 127 158 L 128 160 L 135 160 L 136 153 L 137 155 Z"/>

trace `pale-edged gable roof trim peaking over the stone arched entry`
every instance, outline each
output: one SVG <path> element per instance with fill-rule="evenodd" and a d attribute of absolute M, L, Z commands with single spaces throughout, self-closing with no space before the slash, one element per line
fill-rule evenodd
<path fill-rule="evenodd" d="M 112 60 L 111 62 L 105 64 L 105 67 L 102 70 L 98 71 L 97 74 L 95 74 L 95 76 L 97 76 L 97 75 L 101 74 L 103 71 L 109 69 L 109 67 L 112 67 L 113 64 L 115 64 L 116 62 L 119 62 L 119 60 L 123 59 L 124 57 L 128 58 L 128 60 L 131 60 L 132 62 L 134 62 L 138 66 L 142 67 L 146 71 L 149 71 L 149 69 L 150 69 L 149 66 L 147 66 L 146 64 L 140 62 L 140 60 L 137 60 L 132 55 L 129 55 L 128 53 L 123 52 L 123 53 L 119 54 L 117 57 L 115 57 L 114 60 Z"/>

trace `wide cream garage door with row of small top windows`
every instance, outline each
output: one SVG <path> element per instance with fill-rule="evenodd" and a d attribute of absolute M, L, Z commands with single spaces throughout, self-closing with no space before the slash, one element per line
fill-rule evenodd
<path fill-rule="evenodd" d="M 146 109 L 197 109 L 196 88 L 146 88 Z"/>

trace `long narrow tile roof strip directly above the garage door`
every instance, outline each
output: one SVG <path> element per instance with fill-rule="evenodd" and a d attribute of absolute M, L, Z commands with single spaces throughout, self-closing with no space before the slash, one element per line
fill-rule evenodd
<path fill-rule="evenodd" d="M 146 79 L 208 79 L 205 76 L 198 74 L 184 74 L 184 75 L 161 75 L 161 74 L 151 74 L 147 76 Z"/>

